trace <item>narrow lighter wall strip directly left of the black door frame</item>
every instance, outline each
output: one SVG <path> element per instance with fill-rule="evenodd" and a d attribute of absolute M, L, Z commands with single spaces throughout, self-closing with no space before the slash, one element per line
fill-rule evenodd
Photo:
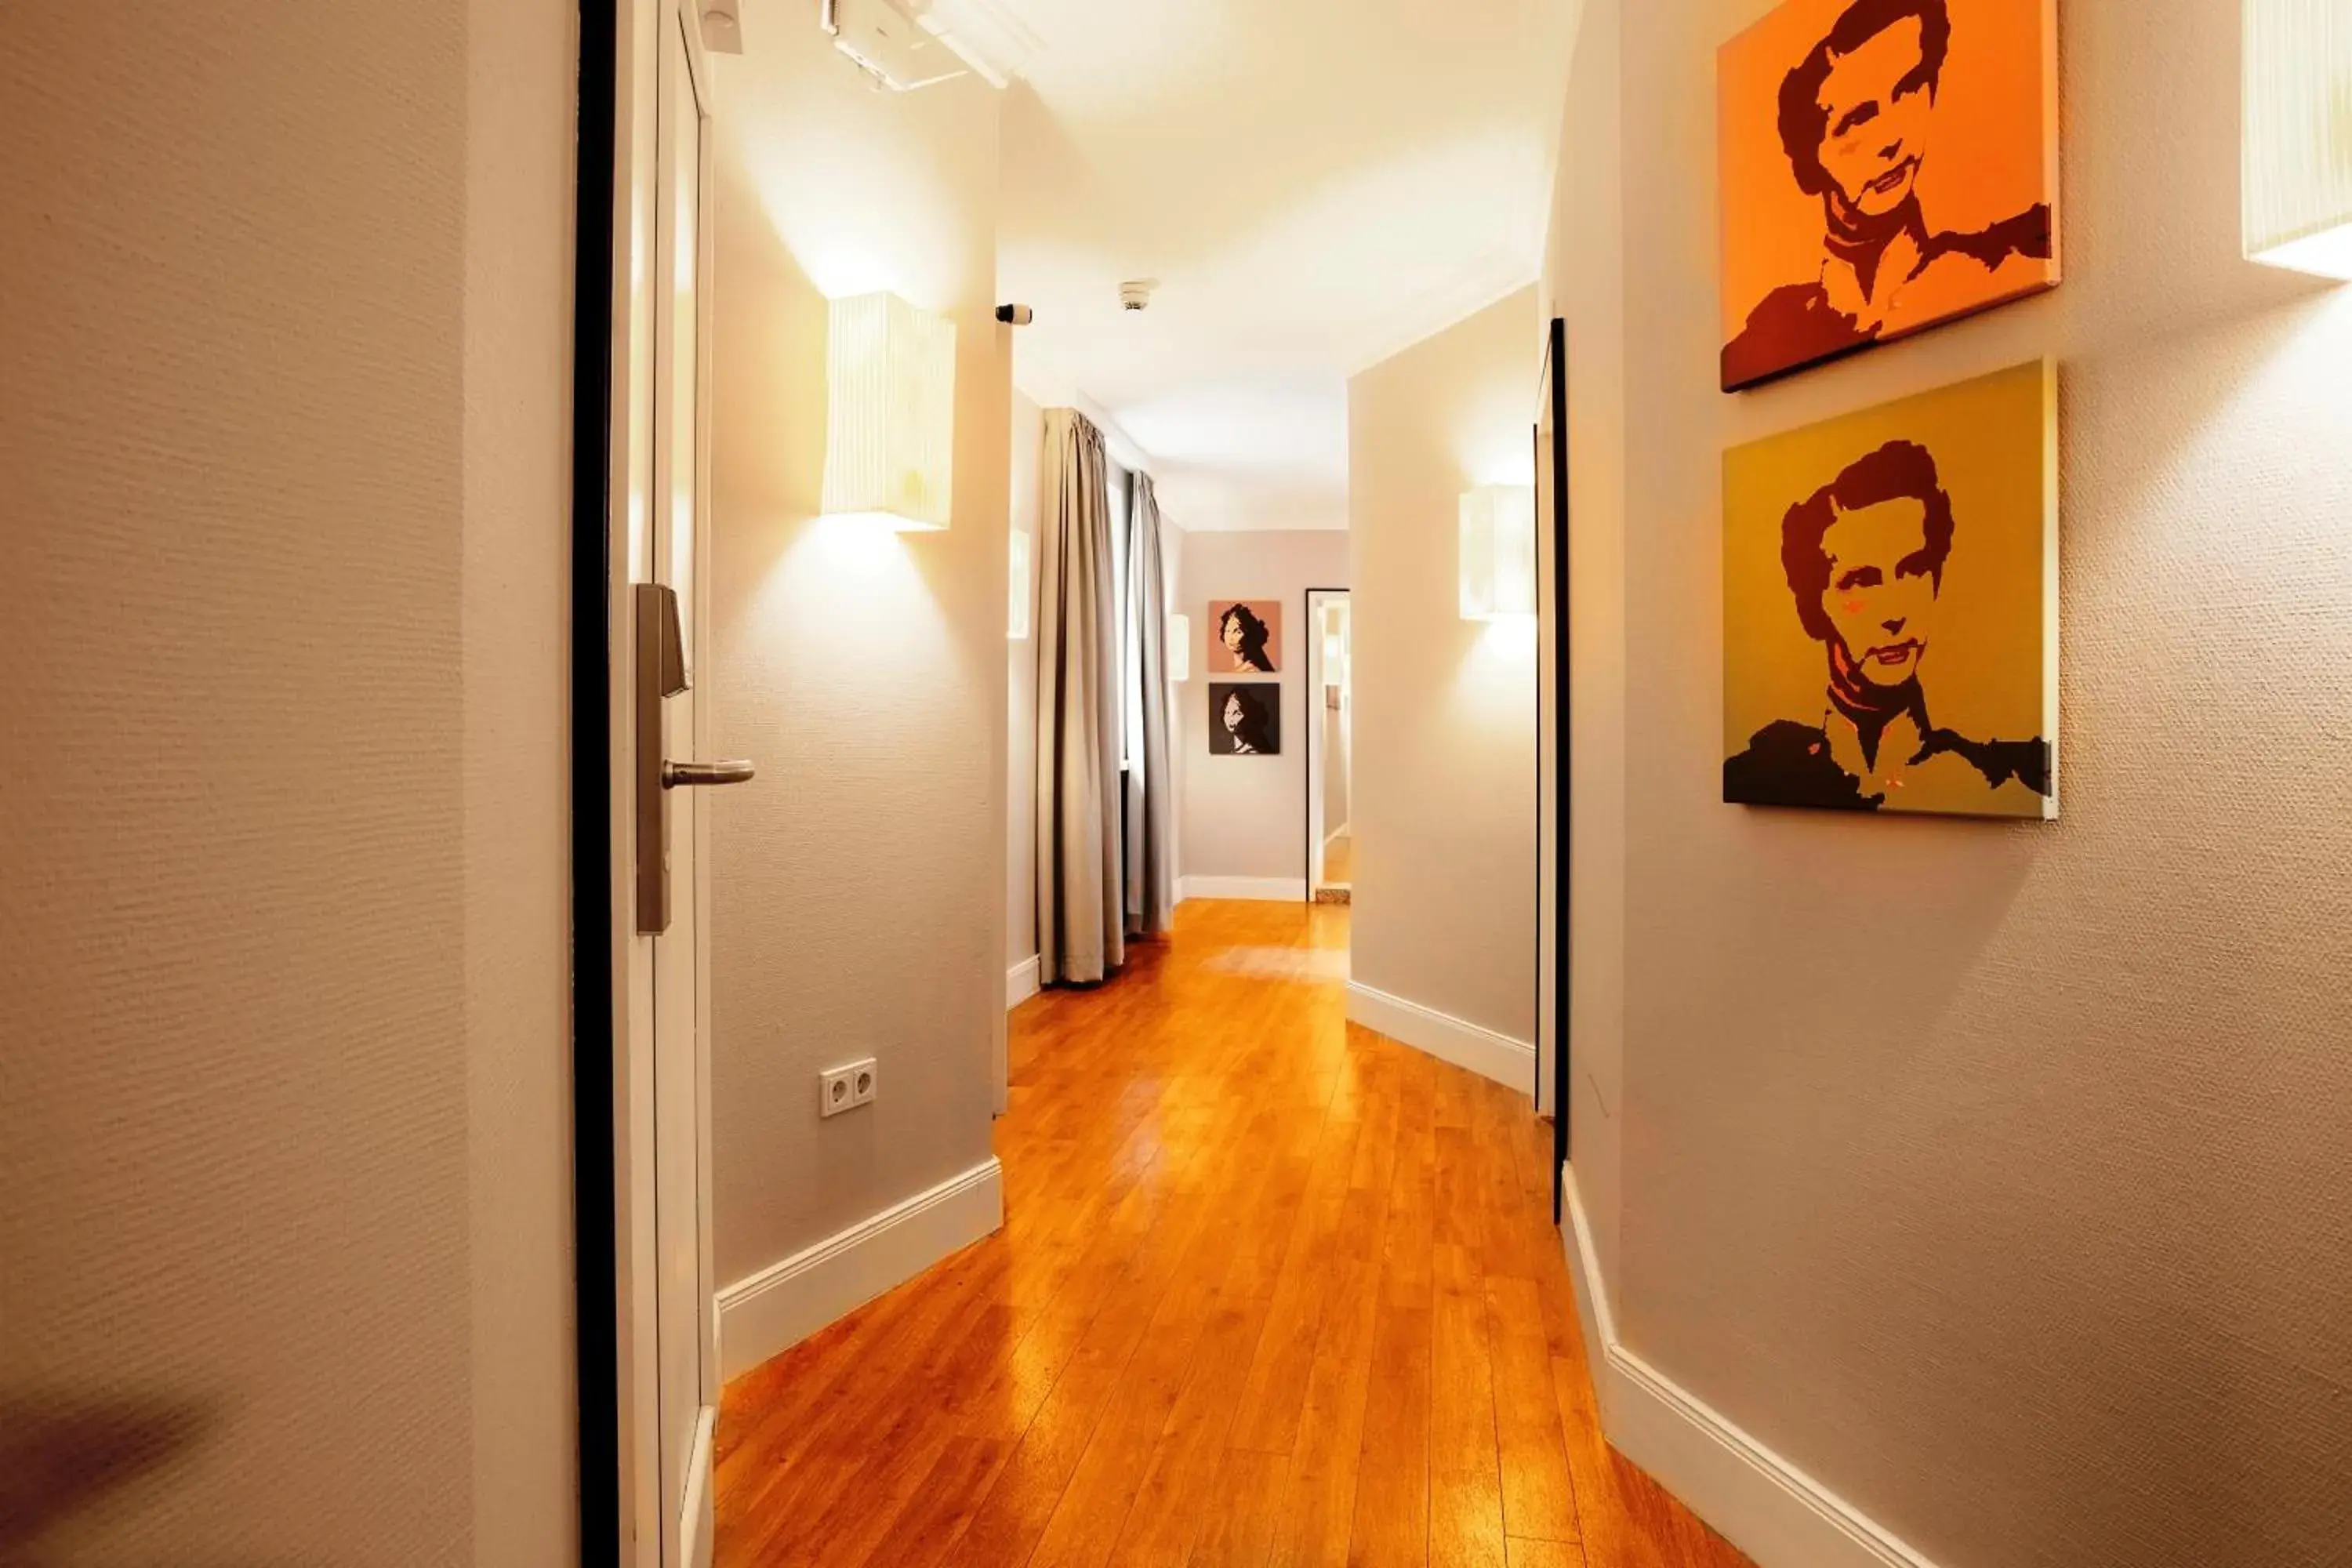
<path fill-rule="evenodd" d="M 278 7 L 266 7 L 282 26 Z M 468 0 L 466 1039 L 475 1561 L 579 1559 L 572 1182 L 576 5 Z M 348 1542 L 346 1542 L 348 1549 Z"/>

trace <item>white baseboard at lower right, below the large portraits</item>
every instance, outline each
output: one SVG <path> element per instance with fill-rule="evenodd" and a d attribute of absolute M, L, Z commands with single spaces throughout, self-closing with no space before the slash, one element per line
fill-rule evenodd
<path fill-rule="evenodd" d="M 1569 1274 L 1592 1363 L 1602 1432 L 1628 1460 L 1759 1568 L 1936 1568 L 1891 1530 L 1778 1453 L 1740 1432 L 1708 1401 L 1625 1349 L 1616 1338 L 1592 1225 L 1569 1166 Z"/>

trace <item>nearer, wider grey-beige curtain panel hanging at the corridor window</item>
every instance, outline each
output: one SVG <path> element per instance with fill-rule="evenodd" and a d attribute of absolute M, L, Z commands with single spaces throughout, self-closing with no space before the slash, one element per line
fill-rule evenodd
<path fill-rule="evenodd" d="M 1094 985 L 1127 959 L 1103 433 L 1075 409 L 1047 409 L 1040 480 L 1037 978 Z"/>

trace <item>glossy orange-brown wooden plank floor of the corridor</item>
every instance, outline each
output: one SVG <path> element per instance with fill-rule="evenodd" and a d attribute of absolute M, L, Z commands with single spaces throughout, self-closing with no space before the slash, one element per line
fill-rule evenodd
<path fill-rule="evenodd" d="M 1548 1128 L 1343 1020 L 1345 922 L 1021 1006 L 1004 1232 L 727 1389 L 722 1566 L 1745 1563 L 1599 1439 Z"/>

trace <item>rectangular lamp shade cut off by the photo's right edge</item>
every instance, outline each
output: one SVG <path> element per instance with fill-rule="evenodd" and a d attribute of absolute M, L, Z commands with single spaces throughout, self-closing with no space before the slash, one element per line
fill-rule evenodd
<path fill-rule="evenodd" d="M 2246 256 L 2352 280 L 2352 0 L 2246 2 Z"/>

